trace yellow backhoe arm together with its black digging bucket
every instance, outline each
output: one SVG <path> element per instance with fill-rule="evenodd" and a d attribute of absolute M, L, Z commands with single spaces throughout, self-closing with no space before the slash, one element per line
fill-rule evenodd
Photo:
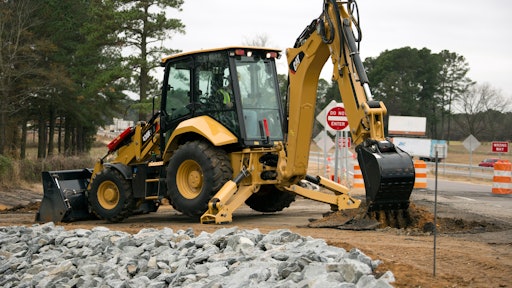
<path fill-rule="evenodd" d="M 283 182 L 288 180 L 290 183 L 306 174 L 318 79 L 330 57 L 334 67 L 333 80 L 337 81 L 350 133 L 357 145 L 369 206 L 372 208 L 376 204 L 373 205 L 375 209 L 404 208 L 409 204 L 414 184 L 414 166 L 407 153 L 385 138 L 386 107 L 372 99 L 352 30 L 352 27 L 359 28 L 352 15 L 354 8 L 357 10 L 354 0 L 325 0 L 320 17 L 306 27 L 294 48 L 286 50 L 289 65 L 288 135 L 286 161 L 282 161 L 280 172 Z"/>

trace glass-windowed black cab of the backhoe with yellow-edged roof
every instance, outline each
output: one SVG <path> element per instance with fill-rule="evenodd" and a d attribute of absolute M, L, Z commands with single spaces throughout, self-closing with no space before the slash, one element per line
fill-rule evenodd
<path fill-rule="evenodd" d="M 233 47 L 164 58 L 162 132 L 172 132 L 186 119 L 209 116 L 236 137 L 235 146 L 271 147 L 283 141 L 275 68 L 279 53 Z"/>

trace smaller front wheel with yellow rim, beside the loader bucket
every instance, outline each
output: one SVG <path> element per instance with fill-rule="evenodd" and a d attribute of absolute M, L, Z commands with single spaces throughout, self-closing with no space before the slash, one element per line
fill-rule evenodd
<path fill-rule="evenodd" d="M 109 222 L 121 222 L 132 215 L 137 203 L 130 181 L 108 168 L 94 177 L 88 200 L 92 212 Z"/>

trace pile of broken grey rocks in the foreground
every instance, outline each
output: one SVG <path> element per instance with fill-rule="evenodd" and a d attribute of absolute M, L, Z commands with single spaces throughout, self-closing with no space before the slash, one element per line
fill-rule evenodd
<path fill-rule="evenodd" d="M 289 230 L 0 227 L 1 287 L 391 287 L 379 263 Z"/>

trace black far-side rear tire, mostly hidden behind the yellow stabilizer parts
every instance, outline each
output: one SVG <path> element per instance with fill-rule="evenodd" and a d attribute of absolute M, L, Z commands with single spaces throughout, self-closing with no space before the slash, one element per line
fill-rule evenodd
<path fill-rule="evenodd" d="M 260 190 L 252 194 L 245 204 L 258 212 L 279 212 L 290 207 L 295 201 L 295 194 L 281 191 L 274 185 L 261 185 Z"/>

